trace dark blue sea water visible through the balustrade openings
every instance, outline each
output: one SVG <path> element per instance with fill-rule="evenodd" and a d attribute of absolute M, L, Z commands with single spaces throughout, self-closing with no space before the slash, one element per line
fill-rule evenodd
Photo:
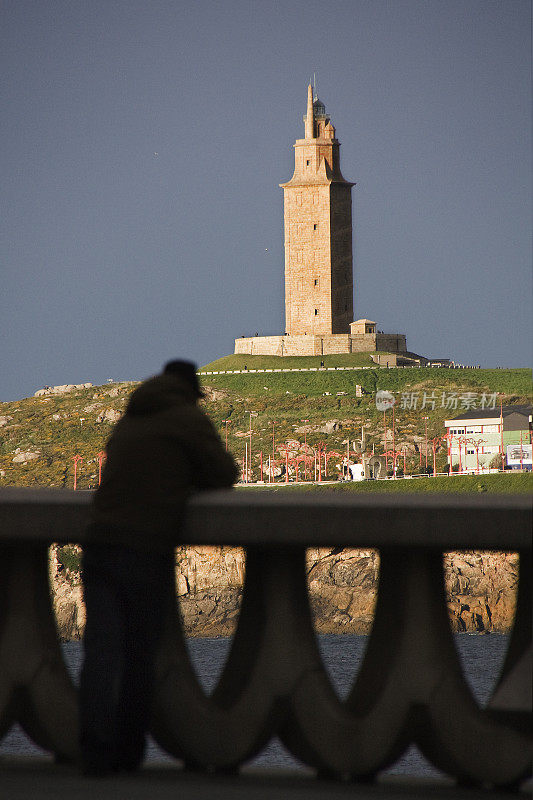
<path fill-rule="evenodd" d="M 346 634 L 318 637 L 324 664 L 340 697 L 345 697 L 349 693 L 367 641 L 367 636 Z M 187 643 L 198 679 L 204 689 L 209 692 L 215 687 L 217 678 L 222 671 L 228 656 L 231 639 L 188 639 Z M 491 695 L 503 665 L 507 643 L 508 637 L 499 634 L 491 634 L 490 636 L 477 634 L 455 635 L 455 644 L 461 658 L 465 677 L 474 697 L 481 705 L 484 705 Z M 72 679 L 77 683 L 82 661 L 81 643 L 66 642 L 62 645 L 62 648 L 65 663 Z M 43 751 L 34 745 L 17 725 L 13 726 L 0 743 L 0 756 L 42 753 Z M 163 761 L 168 760 L 170 756 L 163 752 L 154 741 L 150 740 L 147 758 Z M 292 758 L 277 739 L 273 739 L 263 752 L 250 763 L 251 765 L 271 768 L 301 768 L 301 764 Z M 427 776 L 440 774 L 414 747 L 408 750 L 388 772 L 391 774 L 408 773 Z"/>

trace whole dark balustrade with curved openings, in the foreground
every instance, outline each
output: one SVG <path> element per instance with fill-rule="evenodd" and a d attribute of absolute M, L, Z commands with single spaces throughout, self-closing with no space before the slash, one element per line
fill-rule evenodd
<path fill-rule="evenodd" d="M 90 493 L 0 491 L 0 736 L 18 721 L 76 759 L 76 689 L 57 639 L 48 547 L 83 545 Z M 178 537 L 177 537 L 178 538 Z M 176 542 L 178 543 L 178 541 Z M 239 623 L 215 691 L 189 661 L 179 615 L 158 657 L 152 733 L 190 767 L 235 770 L 278 735 L 321 775 L 368 780 L 415 743 L 463 782 L 517 786 L 530 774 L 531 505 L 523 497 L 213 492 L 191 501 L 180 543 L 246 548 Z M 341 701 L 320 658 L 307 547 L 374 547 L 372 632 Z M 473 698 L 448 622 L 442 555 L 520 554 L 517 611 L 491 700 Z"/>

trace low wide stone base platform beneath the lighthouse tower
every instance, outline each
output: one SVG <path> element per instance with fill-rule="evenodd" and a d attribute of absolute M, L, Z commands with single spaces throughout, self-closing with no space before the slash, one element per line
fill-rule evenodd
<path fill-rule="evenodd" d="M 402 333 L 330 334 L 329 336 L 250 336 L 235 339 L 235 353 L 251 356 L 327 356 L 335 353 L 405 353 Z"/>

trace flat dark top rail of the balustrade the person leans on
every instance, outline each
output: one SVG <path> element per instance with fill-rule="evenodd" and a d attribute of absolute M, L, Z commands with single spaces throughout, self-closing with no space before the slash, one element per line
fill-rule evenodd
<path fill-rule="evenodd" d="M 0 489 L 0 541 L 85 541 L 92 492 Z M 524 495 L 288 494 L 247 489 L 191 498 L 176 544 L 531 549 Z"/>

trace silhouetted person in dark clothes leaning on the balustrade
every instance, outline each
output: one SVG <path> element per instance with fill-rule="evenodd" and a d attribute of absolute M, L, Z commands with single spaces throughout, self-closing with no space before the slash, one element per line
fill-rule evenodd
<path fill-rule="evenodd" d="M 175 604 L 174 546 L 187 498 L 231 486 L 233 458 L 207 416 L 194 364 L 171 361 L 131 395 L 107 443 L 83 552 L 87 623 L 80 679 L 82 769 L 136 769 L 154 659 Z"/>

